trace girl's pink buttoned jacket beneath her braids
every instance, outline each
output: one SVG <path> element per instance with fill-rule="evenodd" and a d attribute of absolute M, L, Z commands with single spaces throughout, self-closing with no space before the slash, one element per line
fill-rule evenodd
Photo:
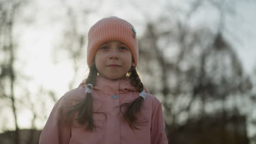
<path fill-rule="evenodd" d="M 113 95 L 118 97 L 114 99 Z M 104 77 L 97 77 L 96 86 L 92 89 L 94 110 L 105 112 L 107 119 L 102 114 L 94 114 L 94 121 L 98 127 L 92 132 L 85 131 L 85 127 L 81 125 L 77 127 L 78 125 L 75 124 L 73 127 L 68 127 L 57 121 L 59 107 L 72 106 L 77 103 L 75 99 L 83 97 L 85 97 L 85 85 L 80 85 L 64 94 L 57 101 L 40 135 L 39 143 L 168 143 L 161 103 L 148 92 L 138 117 L 139 121 L 147 121 L 147 123 L 139 126 L 140 130 L 132 130 L 127 123 L 121 121 L 119 107 L 114 107 L 139 97 L 128 78 L 113 81 Z"/>

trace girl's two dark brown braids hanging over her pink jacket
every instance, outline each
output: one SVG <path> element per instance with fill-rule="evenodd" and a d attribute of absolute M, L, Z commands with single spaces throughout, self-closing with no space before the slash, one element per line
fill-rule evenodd
<path fill-rule="evenodd" d="M 97 73 L 98 71 L 96 69 L 95 64 L 92 64 L 90 67 L 89 75 L 85 83 L 87 85 L 91 83 L 92 85 L 95 86 Z M 141 79 L 139 79 L 139 76 L 135 67 L 131 68 L 130 79 L 131 79 L 130 81 L 131 85 L 134 86 L 139 93 L 142 92 L 144 89 L 143 83 L 141 82 Z M 87 87 L 91 89 L 90 86 L 87 86 Z M 143 98 L 138 97 L 135 100 L 131 101 L 130 103 L 121 104 L 119 107 L 120 112 L 123 114 L 124 121 L 127 122 L 132 129 L 138 129 L 136 126 L 142 125 L 141 122 L 138 122 L 138 119 L 136 117 L 136 114 L 139 111 L 141 111 L 142 102 L 143 102 Z M 94 119 L 92 117 L 94 113 L 102 113 L 107 118 L 106 113 L 93 111 L 92 104 L 93 104 L 92 95 L 91 93 L 87 93 L 86 97 L 80 100 L 78 104 L 75 104 L 69 107 L 71 109 L 66 111 L 60 120 L 65 124 L 70 125 L 72 123 L 74 114 L 77 112 L 78 116 L 75 120 L 79 124 L 86 124 L 87 126 L 85 130 L 92 131 L 96 127 L 96 125 L 94 124 Z M 121 110 L 122 107 L 125 108 L 124 112 Z"/>

